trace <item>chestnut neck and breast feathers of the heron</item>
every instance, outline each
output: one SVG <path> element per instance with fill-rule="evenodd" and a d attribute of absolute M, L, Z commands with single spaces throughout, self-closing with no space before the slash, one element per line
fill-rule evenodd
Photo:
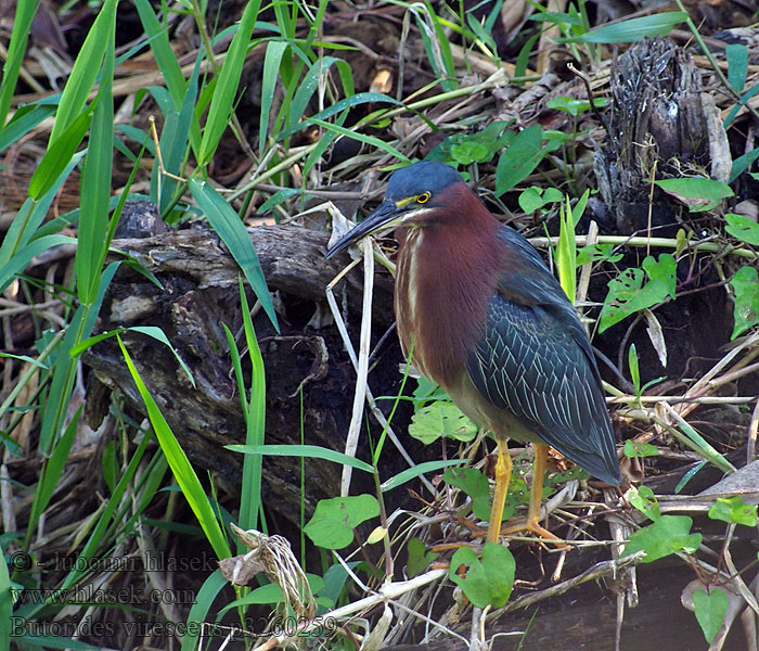
<path fill-rule="evenodd" d="M 403 350 L 446 388 L 458 382 L 465 342 L 479 340 L 499 277 L 500 224 L 463 183 L 440 192 L 442 205 L 399 229 L 395 307 Z"/>

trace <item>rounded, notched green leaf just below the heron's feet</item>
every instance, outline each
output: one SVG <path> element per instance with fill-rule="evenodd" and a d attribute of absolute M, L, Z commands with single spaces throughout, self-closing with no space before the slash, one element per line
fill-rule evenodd
<path fill-rule="evenodd" d="M 466 567 L 463 577 L 456 573 L 462 565 Z M 456 549 L 451 558 L 448 576 L 476 607 L 485 608 L 490 604 L 501 608 L 511 596 L 515 570 L 514 557 L 507 548 L 496 542 L 486 542 L 481 561 L 469 547 Z"/>

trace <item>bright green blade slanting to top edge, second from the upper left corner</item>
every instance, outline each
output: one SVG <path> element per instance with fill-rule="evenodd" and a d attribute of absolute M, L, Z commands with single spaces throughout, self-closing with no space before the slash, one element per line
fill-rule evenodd
<path fill-rule="evenodd" d="M 50 133 L 50 144 L 54 144 L 57 138 L 66 130 L 68 125 L 76 120 L 85 107 L 87 98 L 94 86 L 100 64 L 108 43 L 108 35 L 113 30 L 116 20 L 117 0 L 105 0 L 97 13 L 92 27 L 87 33 L 87 38 L 77 54 L 68 80 L 61 94 L 61 103 L 55 114 L 55 123 Z"/>

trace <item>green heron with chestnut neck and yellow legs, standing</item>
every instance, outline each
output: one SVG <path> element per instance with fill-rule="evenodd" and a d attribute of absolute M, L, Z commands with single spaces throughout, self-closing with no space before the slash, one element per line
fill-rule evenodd
<path fill-rule="evenodd" d="M 419 371 L 498 442 L 488 540 L 539 524 L 548 446 L 590 474 L 621 476 L 588 334 L 538 252 L 502 225 L 450 165 L 390 176 L 385 200 L 326 257 L 396 229 L 398 335 Z M 501 532 L 512 473 L 506 439 L 536 444 L 527 520 Z"/>

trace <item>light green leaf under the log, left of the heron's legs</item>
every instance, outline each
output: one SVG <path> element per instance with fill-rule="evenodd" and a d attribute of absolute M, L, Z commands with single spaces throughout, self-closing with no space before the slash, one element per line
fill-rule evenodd
<path fill-rule="evenodd" d="M 321 499 L 304 533 L 314 545 L 325 549 L 343 549 L 353 541 L 353 529 L 380 515 L 380 503 L 372 495 Z"/>

